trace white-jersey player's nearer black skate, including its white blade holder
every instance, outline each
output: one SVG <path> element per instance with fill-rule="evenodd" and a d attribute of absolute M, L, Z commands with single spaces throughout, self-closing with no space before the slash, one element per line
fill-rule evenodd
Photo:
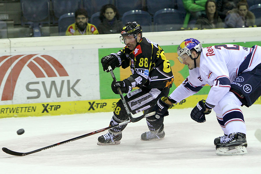
<path fill-rule="evenodd" d="M 236 132 L 229 134 L 225 143 L 217 144 L 217 155 L 244 155 L 247 154 L 246 134 Z"/>

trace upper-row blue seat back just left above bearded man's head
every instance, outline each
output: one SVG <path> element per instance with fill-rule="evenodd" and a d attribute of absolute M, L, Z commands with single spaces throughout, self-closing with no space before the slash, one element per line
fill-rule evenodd
<path fill-rule="evenodd" d="M 55 18 L 60 18 L 66 13 L 74 13 L 80 8 L 81 0 L 52 0 L 52 9 Z M 53 23 L 57 23 L 57 19 L 53 19 Z"/>

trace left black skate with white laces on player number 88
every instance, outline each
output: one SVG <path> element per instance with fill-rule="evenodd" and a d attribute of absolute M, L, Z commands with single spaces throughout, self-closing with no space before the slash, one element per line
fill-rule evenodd
<path fill-rule="evenodd" d="M 120 144 L 122 139 L 122 134 L 113 135 L 110 132 L 98 137 L 97 145 L 115 145 Z"/>

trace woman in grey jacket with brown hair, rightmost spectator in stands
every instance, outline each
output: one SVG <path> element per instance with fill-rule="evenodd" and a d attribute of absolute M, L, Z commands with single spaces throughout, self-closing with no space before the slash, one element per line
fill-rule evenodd
<path fill-rule="evenodd" d="M 231 10 L 225 18 L 225 28 L 242 28 L 253 26 L 255 23 L 255 15 L 248 10 L 246 0 L 238 3 L 238 8 Z"/>

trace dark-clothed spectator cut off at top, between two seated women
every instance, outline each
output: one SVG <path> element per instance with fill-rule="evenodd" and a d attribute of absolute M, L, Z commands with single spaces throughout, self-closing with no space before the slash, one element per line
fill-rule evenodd
<path fill-rule="evenodd" d="M 240 0 L 217 0 L 218 14 L 222 21 L 231 12 L 233 8 L 237 8 L 237 4 Z"/>

